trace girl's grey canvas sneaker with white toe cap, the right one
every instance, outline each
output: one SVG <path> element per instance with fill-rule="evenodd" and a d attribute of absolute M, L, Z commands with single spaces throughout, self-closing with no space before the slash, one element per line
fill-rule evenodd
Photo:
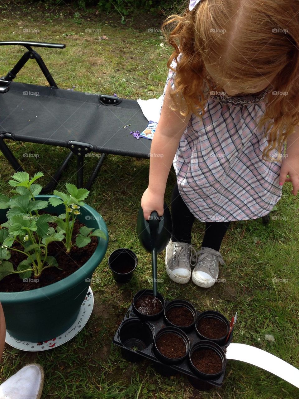
<path fill-rule="evenodd" d="M 197 256 L 199 257 L 192 272 L 192 281 L 199 287 L 209 288 L 218 278 L 219 263 L 225 265 L 225 262 L 219 251 L 208 247 L 201 247 Z"/>

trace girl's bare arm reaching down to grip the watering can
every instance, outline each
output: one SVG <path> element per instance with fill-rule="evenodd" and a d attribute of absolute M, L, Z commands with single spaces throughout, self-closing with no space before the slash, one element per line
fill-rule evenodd
<path fill-rule="evenodd" d="M 170 109 L 172 90 L 166 88 L 160 119 L 150 147 L 149 186 L 141 199 L 145 219 L 149 219 L 154 210 L 163 215 L 163 201 L 168 174 L 192 112 L 183 117 L 180 111 Z"/>

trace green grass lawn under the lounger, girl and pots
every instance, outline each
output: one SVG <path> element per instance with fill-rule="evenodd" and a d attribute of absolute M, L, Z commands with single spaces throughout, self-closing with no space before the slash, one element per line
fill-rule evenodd
<path fill-rule="evenodd" d="M 10 6 L 10 5 L 9 5 Z M 31 6 L 2 3 L 0 40 L 36 40 L 66 43 L 63 50 L 39 49 L 59 87 L 91 93 L 117 93 L 120 97 L 149 99 L 159 97 L 167 76 L 166 61 L 171 49 L 159 34 L 147 32 L 134 24 L 122 26 L 110 22 L 110 16 L 74 17 L 70 10 L 32 9 Z M 65 7 L 67 9 L 67 7 Z M 34 14 L 33 14 L 34 11 Z M 90 20 L 88 20 L 90 18 Z M 102 22 L 101 22 L 102 21 Z M 160 26 L 153 26 L 159 29 Z M 24 33 L 23 28 L 41 32 Z M 101 29 L 99 34 L 86 29 Z M 98 40 L 106 35 L 108 40 Z M 16 63 L 23 50 L 3 48 L 0 54 L 1 76 Z M 21 70 L 17 81 L 46 85 L 33 61 Z M 10 148 L 21 159 L 30 174 L 43 171 L 47 182 L 50 174 L 62 162 L 67 150 L 51 146 L 11 142 Z M 39 154 L 24 158 L 24 153 Z M 96 158 L 86 158 L 85 174 L 92 171 Z M 76 183 L 76 162 L 70 166 L 58 186 Z M 0 191 L 8 192 L 9 175 L 13 173 L 0 154 Z M 158 375 L 149 362 L 133 364 L 121 358 L 119 349 L 111 344 L 119 322 L 135 292 L 149 287 L 150 254 L 145 253 L 136 233 L 136 218 L 141 196 L 147 187 L 149 161 L 137 158 L 108 156 L 91 189 L 88 204 L 103 216 L 109 231 L 106 257 L 96 269 L 92 283 L 94 310 L 86 327 L 70 342 L 54 350 L 26 353 L 6 345 L 1 364 L 1 381 L 21 366 L 37 362 L 45 369 L 43 398 L 246 398 L 293 399 L 298 391 L 292 385 L 257 367 L 238 361 L 228 361 L 225 382 L 221 389 L 202 393 L 193 389 L 184 376 L 170 379 Z M 165 201 L 170 203 L 175 174 L 168 178 Z M 205 290 L 190 282 L 180 286 L 168 279 L 164 267 L 164 252 L 158 255 L 159 291 L 170 300 L 184 298 L 199 310 L 215 309 L 231 318 L 238 312 L 234 342 L 262 348 L 299 367 L 299 225 L 298 198 L 291 194 L 291 183 L 283 186 L 283 196 L 271 219 L 262 225 L 261 219 L 231 223 L 223 240 L 221 252 L 226 265 L 219 278 L 225 282 Z M 199 249 L 204 223 L 195 221 L 193 244 Z M 242 239 L 240 238 L 242 237 Z M 109 254 L 117 248 L 131 248 L 138 257 L 138 267 L 131 282 L 118 285 L 107 266 Z M 281 281 L 280 279 L 285 279 Z M 275 342 L 265 340 L 272 334 Z"/>

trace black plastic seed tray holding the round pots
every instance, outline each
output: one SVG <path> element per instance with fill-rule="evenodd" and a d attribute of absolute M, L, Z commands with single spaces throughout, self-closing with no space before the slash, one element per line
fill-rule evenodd
<path fill-rule="evenodd" d="M 165 300 L 165 306 L 169 302 L 170 301 Z M 198 316 L 202 312 L 196 311 L 196 313 Z M 166 321 L 164 320 L 163 315 L 158 320 L 150 320 L 150 321 L 140 320 L 142 323 L 146 324 L 150 328 L 150 330 L 152 331 L 153 339 L 152 339 L 151 343 L 146 348 L 137 349 L 137 350 L 131 350 L 130 348 L 124 346 L 124 344 L 121 342 L 121 340 L 119 338 L 119 331 L 120 331 L 121 327 L 123 326 L 123 323 L 127 320 L 140 320 L 133 313 L 132 305 L 127 310 L 127 313 L 125 314 L 125 317 L 124 317 L 123 321 L 121 322 L 119 328 L 117 329 L 117 332 L 115 333 L 115 336 L 113 337 L 113 340 L 112 340 L 113 344 L 115 344 L 121 348 L 121 352 L 125 359 L 127 359 L 128 361 L 134 361 L 134 362 L 141 361 L 143 359 L 148 359 L 154 363 L 154 367 L 156 368 L 156 371 L 158 371 L 160 374 L 167 375 L 167 376 L 174 375 L 176 373 L 185 374 L 189 378 L 192 385 L 194 385 L 194 386 L 196 385 L 196 387 L 197 387 L 197 385 L 209 386 L 209 388 L 211 388 L 212 386 L 215 386 L 215 387 L 222 386 L 225 371 L 223 371 L 223 373 L 220 375 L 220 377 L 217 377 L 216 379 L 201 379 L 196 374 L 193 373 L 193 371 L 189 365 L 188 356 L 182 361 L 182 363 L 172 364 L 172 365 L 162 363 L 156 357 L 156 355 L 154 353 L 154 349 L 153 349 L 154 338 L 155 338 L 157 332 L 159 330 L 161 330 L 161 328 L 168 326 L 168 324 L 166 324 Z M 179 328 L 179 327 L 177 327 L 177 328 Z M 193 344 L 195 344 L 195 342 L 202 341 L 196 333 L 195 326 L 191 332 L 185 332 L 185 333 L 187 334 L 187 336 L 190 340 L 190 348 L 192 347 Z M 229 340 L 228 340 L 227 344 L 225 344 L 224 346 L 221 346 L 221 348 L 224 350 L 224 352 L 226 352 L 226 348 L 229 346 L 232 339 L 233 339 L 233 331 L 231 332 L 231 334 L 229 336 Z M 138 342 L 137 343 L 135 342 L 135 343 L 131 344 L 131 347 L 136 346 L 136 348 L 138 348 L 137 345 L 138 345 Z"/>

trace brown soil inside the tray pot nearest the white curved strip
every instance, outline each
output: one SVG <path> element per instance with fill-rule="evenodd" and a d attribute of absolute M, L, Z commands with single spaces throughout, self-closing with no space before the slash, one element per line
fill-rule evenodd
<path fill-rule="evenodd" d="M 219 373 L 222 369 L 220 356 L 211 349 L 194 351 L 191 360 L 195 367 L 205 374 Z"/>

